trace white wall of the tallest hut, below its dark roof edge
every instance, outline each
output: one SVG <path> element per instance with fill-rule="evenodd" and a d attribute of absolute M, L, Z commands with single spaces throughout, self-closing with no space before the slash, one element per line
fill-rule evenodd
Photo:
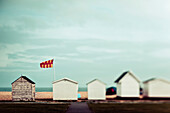
<path fill-rule="evenodd" d="M 120 80 L 120 86 L 118 87 L 117 95 L 120 97 L 139 97 L 140 96 L 140 84 L 129 73 Z"/>

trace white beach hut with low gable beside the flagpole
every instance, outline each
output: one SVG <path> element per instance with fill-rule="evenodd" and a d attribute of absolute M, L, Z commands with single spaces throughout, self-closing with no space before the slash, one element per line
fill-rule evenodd
<path fill-rule="evenodd" d="M 68 78 L 53 82 L 53 100 L 77 100 L 78 83 Z"/>

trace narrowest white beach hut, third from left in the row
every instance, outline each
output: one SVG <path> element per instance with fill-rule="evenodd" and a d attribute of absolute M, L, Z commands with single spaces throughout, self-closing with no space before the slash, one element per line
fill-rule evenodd
<path fill-rule="evenodd" d="M 88 100 L 105 100 L 106 84 L 98 79 L 94 79 L 87 84 Z"/>

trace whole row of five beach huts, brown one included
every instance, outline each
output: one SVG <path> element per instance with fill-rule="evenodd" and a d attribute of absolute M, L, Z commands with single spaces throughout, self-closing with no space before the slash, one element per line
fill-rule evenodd
<path fill-rule="evenodd" d="M 119 76 L 117 83 L 117 97 L 139 98 L 140 80 L 130 71 Z M 53 100 L 78 100 L 78 82 L 63 78 L 53 83 Z M 170 98 L 170 82 L 163 79 L 149 79 L 143 82 L 143 97 Z M 105 100 L 106 84 L 98 79 L 87 83 L 88 100 Z M 35 83 L 21 76 L 12 83 L 13 101 L 35 101 Z"/>

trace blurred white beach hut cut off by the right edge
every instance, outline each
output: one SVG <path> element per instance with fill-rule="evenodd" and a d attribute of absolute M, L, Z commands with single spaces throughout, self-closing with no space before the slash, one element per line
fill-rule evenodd
<path fill-rule="evenodd" d="M 170 98 L 170 82 L 164 79 L 152 78 L 143 82 L 144 97 Z"/>

